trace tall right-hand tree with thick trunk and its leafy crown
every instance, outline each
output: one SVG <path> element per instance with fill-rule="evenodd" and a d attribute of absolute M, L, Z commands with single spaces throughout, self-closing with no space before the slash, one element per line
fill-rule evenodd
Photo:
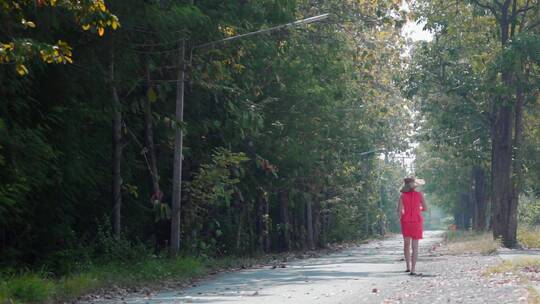
<path fill-rule="evenodd" d="M 420 94 L 423 95 L 422 99 L 424 101 L 433 99 L 427 105 L 422 105 L 422 112 L 429 113 L 425 117 L 432 122 L 428 125 L 433 129 L 427 133 L 432 133 L 431 141 L 436 146 L 445 147 L 449 142 L 460 144 L 456 146 L 455 151 L 463 156 L 468 155 L 467 158 L 473 161 L 472 164 L 478 161 L 477 157 L 484 158 L 482 153 L 478 152 L 490 152 L 492 178 L 489 197 L 493 203 L 493 233 L 495 237 L 503 239 L 505 246 L 514 246 L 517 200 L 520 193 L 516 187 L 519 188 L 522 170 L 520 158 L 517 157 L 521 150 L 520 100 L 523 96 L 520 91 L 525 89 L 528 98 L 534 99 L 534 96 L 537 96 L 536 89 L 533 89 L 534 84 L 523 81 L 527 78 L 523 77 L 527 73 L 523 60 L 535 65 L 534 56 L 530 56 L 529 52 L 537 53 L 531 41 L 538 39 L 534 34 L 535 20 L 538 19 L 538 3 L 469 1 L 443 5 L 442 2 L 419 1 L 415 5 L 417 16 L 427 21 L 426 26 L 435 33 L 436 38 L 434 42 L 420 47 L 419 52 L 415 52 L 430 53 L 432 61 L 420 63 L 421 72 L 413 73 L 416 75 L 413 79 L 418 75 L 424 75 L 424 78 L 418 79 L 431 79 L 429 83 L 437 85 L 431 91 L 444 94 L 445 99 L 450 98 L 446 100 L 451 101 L 449 104 L 452 105 L 452 108 L 448 108 L 450 110 L 448 115 L 434 113 L 430 108 L 441 108 L 434 103 L 437 98 L 440 100 L 440 97 L 429 95 L 430 90 L 424 89 Z M 479 24 L 484 26 L 479 27 Z M 529 41 L 525 43 L 527 47 L 519 46 L 524 44 L 523 41 Z M 461 71 L 454 69 L 458 66 L 462 66 Z M 414 66 L 412 70 L 415 70 Z M 420 84 L 416 81 L 413 83 Z M 422 84 L 410 87 L 414 92 L 418 92 L 418 88 L 422 88 Z M 446 104 L 446 101 L 444 103 Z M 467 109 L 467 103 L 474 105 L 476 110 L 472 108 L 474 111 L 470 112 L 471 108 Z M 461 112 L 467 116 L 451 117 L 456 115 L 456 110 L 460 108 L 467 109 L 467 112 Z M 476 118 L 469 116 L 470 113 L 476 113 Z M 464 117 L 470 118 L 463 120 Z M 474 126 L 472 122 L 475 121 L 488 123 Z M 465 132 L 459 131 L 450 137 L 440 133 L 437 136 L 436 128 L 458 130 L 461 125 L 470 124 L 478 129 L 467 127 Z M 491 130 L 490 134 L 484 132 L 487 127 Z M 470 136 L 469 133 L 478 136 Z M 482 140 L 486 135 L 489 135 L 489 149 L 485 149 L 486 141 Z M 464 142 L 463 139 L 467 138 L 472 140 Z M 464 143 L 466 145 L 463 145 Z M 482 199 L 476 201 L 480 204 L 478 207 L 481 207 Z M 479 220 L 477 222 L 481 223 Z M 476 227 L 481 228 L 480 226 Z"/>

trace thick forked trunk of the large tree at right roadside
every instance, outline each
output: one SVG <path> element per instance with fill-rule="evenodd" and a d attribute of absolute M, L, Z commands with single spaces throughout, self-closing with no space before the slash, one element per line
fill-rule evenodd
<path fill-rule="evenodd" d="M 531 21 L 535 22 L 530 15 L 538 11 L 539 4 L 518 0 L 472 2 L 489 10 L 499 26 L 503 56 L 499 71 L 503 92 L 494 96 L 491 116 L 493 235 L 502 238 L 505 246 L 513 247 L 517 243 L 518 207 L 518 195 L 515 195 L 517 184 L 514 179 L 521 175 L 521 166 L 513 163 L 513 156 L 514 150 L 520 150 L 518 145 L 521 144 L 522 128 L 522 93 L 516 92 L 515 88 L 517 73 L 523 73 L 523 70 L 513 69 L 516 63 L 511 58 L 505 58 L 509 55 L 505 51 L 518 34 L 528 30 Z"/>

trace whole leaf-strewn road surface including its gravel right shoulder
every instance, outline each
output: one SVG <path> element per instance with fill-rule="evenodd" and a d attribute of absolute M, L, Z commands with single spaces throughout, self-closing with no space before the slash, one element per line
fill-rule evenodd
<path fill-rule="evenodd" d="M 404 272 L 399 235 L 320 258 L 231 272 L 185 290 L 122 303 L 526 303 L 517 277 L 490 277 L 498 256 L 448 256 L 437 251 L 442 232 L 421 241 L 418 272 Z M 118 303 L 119 299 L 112 302 Z M 94 301 L 93 303 L 112 303 Z"/>

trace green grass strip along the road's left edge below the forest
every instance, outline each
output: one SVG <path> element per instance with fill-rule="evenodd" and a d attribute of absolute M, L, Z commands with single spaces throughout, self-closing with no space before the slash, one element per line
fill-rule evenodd
<path fill-rule="evenodd" d="M 202 259 L 144 258 L 135 263 L 89 266 L 85 271 L 59 279 L 44 273 L 0 275 L 0 304 L 53 303 L 112 286 L 147 286 L 163 281 L 184 282 L 200 278 L 212 270 L 238 267 L 250 261 L 236 258 Z"/>

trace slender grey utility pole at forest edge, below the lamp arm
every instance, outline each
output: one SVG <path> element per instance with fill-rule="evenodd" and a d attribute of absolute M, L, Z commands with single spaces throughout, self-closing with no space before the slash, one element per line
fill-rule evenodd
<path fill-rule="evenodd" d="M 185 49 L 186 42 L 182 41 L 179 54 L 178 81 L 176 83 L 176 113 L 174 132 L 174 168 L 173 168 L 173 195 L 171 212 L 171 253 L 177 255 L 180 251 L 180 210 L 182 203 L 182 127 L 184 121 L 184 75 L 185 75 Z"/>

